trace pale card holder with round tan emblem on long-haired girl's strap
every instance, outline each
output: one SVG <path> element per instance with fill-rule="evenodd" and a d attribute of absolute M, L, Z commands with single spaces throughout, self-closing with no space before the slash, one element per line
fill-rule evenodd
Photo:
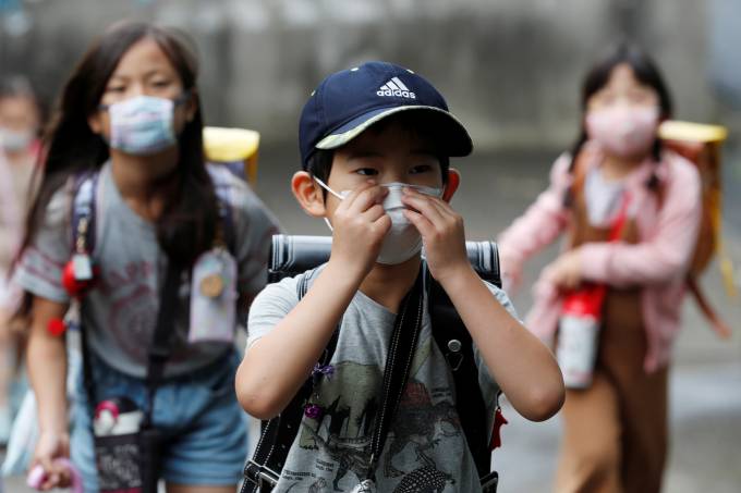
<path fill-rule="evenodd" d="M 223 248 L 198 257 L 191 285 L 190 343 L 231 343 L 236 323 L 236 261 Z"/>

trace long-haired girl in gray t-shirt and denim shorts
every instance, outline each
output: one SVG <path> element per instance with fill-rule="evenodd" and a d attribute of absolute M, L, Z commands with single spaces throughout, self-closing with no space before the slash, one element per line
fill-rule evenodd
<path fill-rule="evenodd" d="M 245 183 L 205 163 L 197 74 L 193 46 L 181 33 L 125 22 L 93 44 L 64 86 L 15 272 L 27 294 L 21 311 L 32 319 L 27 366 L 44 489 L 69 484 L 69 470 L 54 460 L 66 456 L 86 491 L 101 488 L 92 421 L 97 427 L 122 397 L 150 410 L 162 443 L 156 473 L 168 491 L 228 492 L 241 477 L 246 428 L 233 392 L 236 316 L 223 313 L 231 304 L 244 316 L 265 285 L 278 226 Z M 73 245 L 80 237 L 72 221 L 82 194 L 76 184 L 90 174 L 95 246 L 87 256 Z M 197 284 L 204 259 L 211 262 L 210 281 Z M 181 274 L 165 292 L 171 266 Z M 82 282 L 90 276 L 92 287 Z M 65 338 L 54 328 L 75 295 L 88 371 L 70 411 L 70 436 Z M 149 346 L 162 298 L 170 297 L 174 308 L 163 322 L 171 324 L 170 354 L 153 395 Z M 212 318 L 195 316 L 219 299 Z"/>

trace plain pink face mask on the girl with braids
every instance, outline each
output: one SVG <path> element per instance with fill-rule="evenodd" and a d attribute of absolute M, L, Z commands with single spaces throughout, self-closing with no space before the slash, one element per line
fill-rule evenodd
<path fill-rule="evenodd" d="M 658 108 L 612 107 L 586 114 L 586 134 L 620 158 L 647 153 L 656 139 Z"/>

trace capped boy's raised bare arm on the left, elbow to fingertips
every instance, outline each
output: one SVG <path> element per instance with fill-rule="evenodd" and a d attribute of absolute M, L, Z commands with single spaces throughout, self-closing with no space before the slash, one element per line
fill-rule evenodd
<path fill-rule="evenodd" d="M 378 204 L 386 190 L 366 184 L 332 218 L 332 251 L 306 296 L 246 352 L 236 396 L 256 418 L 280 412 L 308 378 L 337 323 L 373 267 L 391 219 Z"/>

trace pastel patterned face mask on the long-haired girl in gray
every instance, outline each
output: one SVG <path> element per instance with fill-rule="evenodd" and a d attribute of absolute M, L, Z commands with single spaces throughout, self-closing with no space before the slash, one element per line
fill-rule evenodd
<path fill-rule="evenodd" d="M 133 156 L 149 156 L 178 143 L 173 126 L 174 108 L 186 95 L 174 101 L 151 96 L 136 96 L 125 101 L 101 106 L 111 120 L 108 145 Z"/>

